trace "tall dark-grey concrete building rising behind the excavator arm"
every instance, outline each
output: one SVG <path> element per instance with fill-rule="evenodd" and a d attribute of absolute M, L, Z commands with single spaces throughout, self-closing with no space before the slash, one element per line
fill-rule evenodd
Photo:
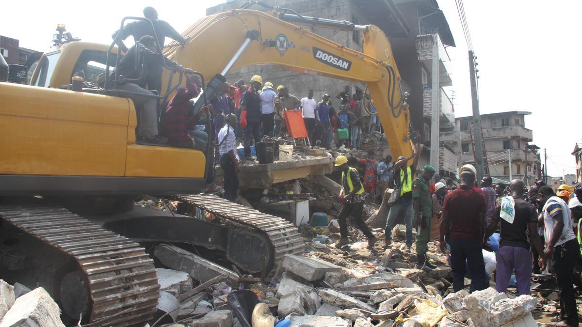
<path fill-rule="evenodd" d="M 246 0 L 223 3 L 206 10 L 207 15 L 225 10 L 239 8 Z M 439 158 L 439 170 L 442 175 L 454 175 L 457 155 L 450 148 L 439 147 L 439 141 L 431 142 L 432 112 L 438 112 L 437 130 L 452 130 L 455 115 L 452 101 L 443 87 L 451 86 L 449 56 L 445 46 L 455 46 L 455 40 L 446 22 L 445 16 L 435 0 L 265 0 L 272 6 L 281 6 L 295 10 L 300 15 L 322 17 L 335 20 L 348 20 L 355 24 L 374 24 L 390 38 L 396 64 L 402 77 L 402 89 L 410 97 L 411 123 L 420 134 L 421 141 L 428 147 L 435 144 L 433 151 Z M 261 9 L 255 6 L 253 9 Z M 261 9 L 264 10 L 264 9 Z M 362 51 L 363 42 L 360 31 L 341 31 L 322 27 L 303 26 L 329 40 L 338 42 L 348 48 Z M 435 61 L 432 60 L 433 56 Z M 275 85 L 284 84 L 290 93 L 301 98 L 307 90 L 314 90 L 314 97 L 319 99 L 324 93 L 332 95 L 332 104 L 338 105 L 335 98 L 346 85 L 350 94 L 364 90 L 363 83 L 347 83 L 313 74 L 291 72 L 274 66 L 247 66 L 226 76 L 227 80 L 250 79 L 260 74 L 265 81 Z M 437 133 L 438 137 L 438 133 Z M 423 154 L 421 162 L 429 163 L 428 151 Z"/>

